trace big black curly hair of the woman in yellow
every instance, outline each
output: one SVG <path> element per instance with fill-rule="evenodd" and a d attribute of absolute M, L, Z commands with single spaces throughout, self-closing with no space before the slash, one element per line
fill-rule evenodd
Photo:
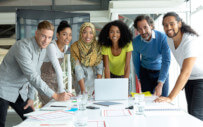
<path fill-rule="evenodd" d="M 107 23 L 101 30 L 99 34 L 99 44 L 106 46 L 106 47 L 111 47 L 112 46 L 112 41 L 109 39 L 109 30 L 111 26 L 117 26 L 120 30 L 120 39 L 118 46 L 119 48 L 124 48 L 128 43 L 132 41 L 132 33 L 128 26 L 123 23 L 122 21 L 115 20 L 112 22 Z"/>

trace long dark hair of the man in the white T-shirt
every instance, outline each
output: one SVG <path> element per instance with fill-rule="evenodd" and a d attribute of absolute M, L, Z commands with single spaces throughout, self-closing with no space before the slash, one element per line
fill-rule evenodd
<path fill-rule="evenodd" d="M 175 17 L 177 22 L 181 22 L 182 23 L 182 27 L 180 28 L 182 33 L 189 33 L 191 35 L 196 35 L 199 36 L 198 33 L 193 30 L 189 25 L 187 25 L 185 22 L 183 22 L 183 20 L 180 18 L 180 16 L 175 13 L 175 12 L 168 12 L 164 15 L 163 20 L 162 20 L 162 24 L 164 25 L 164 19 L 168 16 L 173 16 Z"/>

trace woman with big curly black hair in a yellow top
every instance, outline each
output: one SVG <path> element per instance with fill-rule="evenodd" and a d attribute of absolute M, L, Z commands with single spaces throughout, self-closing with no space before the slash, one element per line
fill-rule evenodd
<path fill-rule="evenodd" d="M 105 78 L 129 78 L 132 33 L 122 21 L 106 24 L 99 34 Z"/>

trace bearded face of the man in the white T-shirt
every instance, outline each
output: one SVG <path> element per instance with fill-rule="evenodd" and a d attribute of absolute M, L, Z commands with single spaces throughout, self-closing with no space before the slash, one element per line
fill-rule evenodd
<path fill-rule="evenodd" d="M 163 26 L 169 38 L 175 37 L 181 28 L 181 22 L 177 22 L 174 16 L 167 16 L 163 19 Z"/>

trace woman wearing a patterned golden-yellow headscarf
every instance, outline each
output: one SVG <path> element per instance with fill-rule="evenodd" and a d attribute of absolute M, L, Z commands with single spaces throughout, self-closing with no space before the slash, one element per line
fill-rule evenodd
<path fill-rule="evenodd" d="M 102 78 L 103 61 L 101 46 L 96 41 L 96 30 L 92 23 L 80 27 L 79 40 L 71 45 L 71 65 L 76 93 L 92 95 L 94 79 Z"/>

